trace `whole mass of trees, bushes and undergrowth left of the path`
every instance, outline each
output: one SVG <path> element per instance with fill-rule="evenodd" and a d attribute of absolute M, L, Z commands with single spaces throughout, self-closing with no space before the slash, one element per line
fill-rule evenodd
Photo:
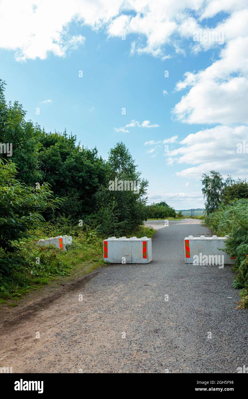
<path fill-rule="evenodd" d="M 101 266 L 107 237 L 152 237 L 146 220 L 148 181 L 122 142 L 107 160 L 76 136 L 45 132 L 25 120 L 18 101 L 7 102 L 0 80 L 0 302 L 18 299 L 81 263 Z M 109 181 L 138 181 L 139 190 L 109 190 Z M 68 251 L 39 247 L 39 239 L 72 235 Z M 87 266 L 87 265 L 86 265 Z M 88 270 L 89 267 L 86 267 Z M 10 306 L 14 306 L 13 304 Z"/>

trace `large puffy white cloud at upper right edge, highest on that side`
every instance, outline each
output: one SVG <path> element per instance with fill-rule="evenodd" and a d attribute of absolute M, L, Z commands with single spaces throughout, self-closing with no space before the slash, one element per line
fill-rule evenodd
<path fill-rule="evenodd" d="M 219 9 L 217 3 L 215 6 Z M 218 24 L 217 30 L 225 33 L 226 46 L 221 47 L 219 59 L 212 65 L 186 72 L 184 80 L 177 83 L 176 91 L 189 89 L 172 111 L 177 120 L 190 124 L 248 123 L 244 101 L 248 97 L 247 20 L 248 8 L 233 12 Z"/>

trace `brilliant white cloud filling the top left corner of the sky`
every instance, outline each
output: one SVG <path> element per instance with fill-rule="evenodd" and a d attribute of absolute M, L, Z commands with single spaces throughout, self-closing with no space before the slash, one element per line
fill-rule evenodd
<path fill-rule="evenodd" d="M 18 61 L 45 59 L 49 52 L 64 56 L 67 50 L 76 49 L 85 41 L 82 35 L 68 33 L 76 12 L 75 1 L 2 0 L 0 47 L 16 51 Z"/>

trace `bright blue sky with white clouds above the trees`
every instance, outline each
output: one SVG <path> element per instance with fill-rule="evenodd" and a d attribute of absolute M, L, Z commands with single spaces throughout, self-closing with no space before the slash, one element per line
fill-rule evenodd
<path fill-rule="evenodd" d="M 31 9 L 36 3 L 37 7 Z M 81 10 L 85 2 L 74 3 Z M 236 143 L 247 136 L 247 113 L 244 105 L 240 107 L 247 70 L 239 67 L 247 37 L 242 22 L 242 40 L 235 26 L 246 8 L 242 1 L 230 1 L 227 9 L 224 5 L 218 8 L 214 1 L 211 6 L 210 1 L 199 0 L 196 13 L 197 2 L 188 0 L 191 12 L 182 3 L 168 19 L 160 2 L 158 10 L 145 3 L 146 7 L 141 4 L 139 10 L 132 5 L 122 12 L 118 8 L 110 16 L 107 6 L 98 3 L 99 22 L 94 12 L 75 20 L 76 9 L 65 17 L 66 9 L 63 15 L 53 15 L 49 2 L 30 2 L 22 10 L 27 32 L 20 34 L 20 43 L 11 38 L 0 41 L 0 77 L 8 84 L 7 99 L 22 103 L 27 119 L 38 122 L 46 131 L 66 128 L 84 146 L 96 146 L 103 158 L 116 142 L 123 141 L 142 176 L 149 180 L 149 201 L 165 200 L 176 209 L 203 207 L 203 172 L 215 169 L 234 177 L 246 176 L 247 172 L 247 155 L 237 158 L 236 154 Z M 3 6 L 6 18 L 11 18 L 9 6 Z M 45 40 L 36 25 L 47 10 L 51 20 Z M 35 26 L 31 18 L 37 18 Z M 149 26 L 145 33 L 143 22 Z M 206 32 L 217 29 L 226 33 L 225 24 L 228 33 L 223 45 L 193 40 L 201 27 Z M 164 36 L 168 26 L 173 32 Z M 8 24 L 11 28 L 18 27 Z M 39 39 L 38 44 L 30 44 L 32 38 Z M 233 51 L 236 66 L 226 70 L 224 65 L 233 58 Z M 78 76 L 81 70 L 82 78 Z M 164 77 L 165 70 L 169 77 Z M 37 107 L 40 115 L 36 115 Z M 147 120 L 150 123 L 144 124 Z M 131 121 L 135 126 L 126 126 Z M 142 123 L 159 126 L 142 127 Z M 124 131 L 118 131 L 120 128 Z M 155 144 L 145 144 L 151 140 Z M 169 152 L 165 153 L 165 145 Z"/>

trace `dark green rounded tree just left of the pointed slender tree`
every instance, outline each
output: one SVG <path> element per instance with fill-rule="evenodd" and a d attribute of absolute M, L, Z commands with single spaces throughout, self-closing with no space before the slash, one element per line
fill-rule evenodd
<path fill-rule="evenodd" d="M 59 213 L 75 221 L 82 219 L 93 211 L 92 196 L 107 181 L 105 161 L 96 148 L 76 145 L 76 136 L 68 135 L 66 130 L 43 131 L 40 142 L 41 181 L 51 184 L 54 194 L 64 199 Z"/>

